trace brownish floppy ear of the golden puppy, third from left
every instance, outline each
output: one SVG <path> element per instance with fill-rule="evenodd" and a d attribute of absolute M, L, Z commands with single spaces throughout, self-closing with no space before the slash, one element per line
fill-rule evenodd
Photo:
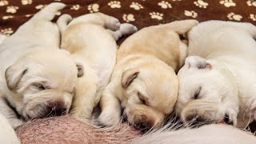
<path fill-rule="evenodd" d="M 127 88 L 130 85 L 130 83 L 133 82 L 135 78 L 137 78 L 138 73 L 139 73 L 138 68 L 128 69 L 124 71 L 122 73 L 122 80 L 121 80 L 122 87 Z"/>

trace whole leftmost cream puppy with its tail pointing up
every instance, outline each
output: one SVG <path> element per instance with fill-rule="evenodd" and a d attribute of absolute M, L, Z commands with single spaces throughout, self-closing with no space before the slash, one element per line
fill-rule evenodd
<path fill-rule="evenodd" d="M 46 6 L 0 45 L 0 113 L 13 128 L 70 109 L 78 69 L 51 22 L 64 6 Z"/>

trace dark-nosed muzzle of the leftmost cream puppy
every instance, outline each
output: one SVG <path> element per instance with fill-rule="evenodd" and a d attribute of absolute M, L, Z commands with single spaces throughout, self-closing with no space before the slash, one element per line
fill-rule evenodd
<path fill-rule="evenodd" d="M 60 116 L 68 113 L 73 95 L 60 95 L 56 94 L 54 90 L 50 91 L 42 92 L 42 94 L 25 94 L 23 98 L 25 105 L 22 109 L 22 117 L 25 120 Z"/>

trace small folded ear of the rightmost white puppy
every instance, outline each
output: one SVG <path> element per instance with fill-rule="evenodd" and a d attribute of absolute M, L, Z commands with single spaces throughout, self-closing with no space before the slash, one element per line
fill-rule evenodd
<path fill-rule="evenodd" d="M 210 70 L 210 63 L 206 59 L 198 56 L 190 56 L 186 58 L 185 64 L 190 67 L 196 67 L 198 69 Z"/>

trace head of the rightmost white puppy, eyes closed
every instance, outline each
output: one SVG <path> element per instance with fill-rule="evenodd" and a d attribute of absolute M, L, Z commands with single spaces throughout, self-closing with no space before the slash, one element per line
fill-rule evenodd
<path fill-rule="evenodd" d="M 236 124 L 238 91 L 230 70 L 219 62 L 190 56 L 178 71 L 175 110 L 186 124 Z"/>

